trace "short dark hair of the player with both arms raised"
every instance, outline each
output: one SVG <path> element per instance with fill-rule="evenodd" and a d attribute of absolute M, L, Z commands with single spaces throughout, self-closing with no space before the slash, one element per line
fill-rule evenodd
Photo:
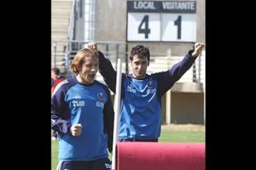
<path fill-rule="evenodd" d="M 134 55 L 137 55 L 139 58 L 147 57 L 148 63 L 150 62 L 150 52 L 147 47 L 143 45 L 137 45 L 132 47 L 132 51 L 130 51 L 130 60 L 134 59 Z"/>

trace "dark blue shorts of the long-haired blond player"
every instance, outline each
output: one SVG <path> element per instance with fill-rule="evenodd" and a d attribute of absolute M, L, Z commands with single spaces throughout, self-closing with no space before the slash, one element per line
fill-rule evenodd
<path fill-rule="evenodd" d="M 56 170 L 111 170 L 111 161 L 108 158 L 94 161 L 59 161 Z"/>

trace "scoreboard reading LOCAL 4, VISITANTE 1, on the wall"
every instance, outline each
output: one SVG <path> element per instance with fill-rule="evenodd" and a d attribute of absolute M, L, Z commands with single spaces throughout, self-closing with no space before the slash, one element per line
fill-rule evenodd
<path fill-rule="evenodd" d="M 127 1 L 127 41 L 195 42 L 195 1 Z"/>

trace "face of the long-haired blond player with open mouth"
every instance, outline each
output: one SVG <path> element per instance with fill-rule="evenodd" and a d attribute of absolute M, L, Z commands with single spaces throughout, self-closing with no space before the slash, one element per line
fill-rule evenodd
<path fill-rule="evenodd" d="M 84 84 L 92 84 L 98 71 L 98 57 L 86 57 L 79 71 L 79 78 Z"/>

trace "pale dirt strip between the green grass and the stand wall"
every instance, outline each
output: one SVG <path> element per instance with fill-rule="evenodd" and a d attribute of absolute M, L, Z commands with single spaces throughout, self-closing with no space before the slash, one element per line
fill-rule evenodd
<path fill-rule="evenodd" d="M 197 124 L 170 124 L 162 125 L 162 129 L 169 129 L 172 131 L 187 131 L 187 132 L 205 132 L 205 126 Z"/>

